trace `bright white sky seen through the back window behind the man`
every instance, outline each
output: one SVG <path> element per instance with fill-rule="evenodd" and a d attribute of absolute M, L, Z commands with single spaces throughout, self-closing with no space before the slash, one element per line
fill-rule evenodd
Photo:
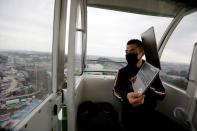
<path fill-rule="evenodd" d="M 126 43 L 155 28 L 159 40 L 172 18 L 88 8 L 88 54 L 124 57 Z M 114 46 L 115 45 L 115 46 Z"/>

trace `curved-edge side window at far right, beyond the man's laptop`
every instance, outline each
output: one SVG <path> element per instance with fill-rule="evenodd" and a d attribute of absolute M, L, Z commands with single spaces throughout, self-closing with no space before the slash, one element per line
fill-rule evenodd
<path fill-rule="evenodd" d="M 169 38 L 161 57 L 163 81 L 187 89 L 189 66 L 197 42 L 197 12 L 185 16 Z"/>

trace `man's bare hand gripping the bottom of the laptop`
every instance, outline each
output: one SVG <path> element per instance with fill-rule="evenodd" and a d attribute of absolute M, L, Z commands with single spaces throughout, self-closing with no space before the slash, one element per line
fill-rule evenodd
<path fill-rule="evenodd" d="M 132 106 L 136 107 L 144 103 L 144 97 L 142 93 L 136 93 L 136 92 L 129 92 L 127 94 L 127 99 Z"/>

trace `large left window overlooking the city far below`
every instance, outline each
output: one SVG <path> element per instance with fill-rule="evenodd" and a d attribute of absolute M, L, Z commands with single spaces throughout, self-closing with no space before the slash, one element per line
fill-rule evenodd
<path fill-rule="evenodd" d="M 54 0 L 0 1 L 0 127 L 14 128 L 52 90 Z"/>

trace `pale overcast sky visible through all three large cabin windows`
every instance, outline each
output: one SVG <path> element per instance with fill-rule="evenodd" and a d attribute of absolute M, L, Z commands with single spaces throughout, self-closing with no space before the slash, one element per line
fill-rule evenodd
<path fill-rule="evenodd" d="M 1 0 L 0 50 L 51 52 L 53 7 L 54 0 Z M 197 13 L 194 13 L 181 22 L 162 59 L 188 61 L 197 38 L 196 19 Z M 171 21 L 172 18 L 88 7 L 87 54 L 124 57 L 125 44 L 129 39 L 140 39 L 141 34 L 153 26 L 159 41 Z M 179 46 L 173 43 L 181 43 L 181 48 L 176 50 Z"/>

